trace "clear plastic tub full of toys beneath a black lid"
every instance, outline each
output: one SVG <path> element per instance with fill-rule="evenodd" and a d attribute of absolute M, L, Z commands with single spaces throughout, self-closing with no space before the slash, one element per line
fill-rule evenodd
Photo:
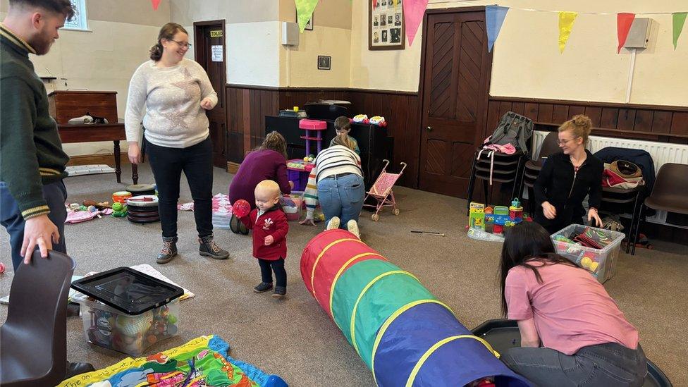
<path fill-rule="evenodd" d="M 79 294 L 84 335 L 89 343 L 138 357 L 153 344 L 178 333 L 179 299 L 139 315 L 125 314 Z"/>

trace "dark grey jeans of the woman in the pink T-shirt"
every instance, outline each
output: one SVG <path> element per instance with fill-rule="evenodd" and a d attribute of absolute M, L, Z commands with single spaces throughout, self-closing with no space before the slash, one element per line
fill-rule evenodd
<path fill-rule="evenodd" d="M 640 344 L 634 350 L 617 343 L 589 345 L 573 355 L 551 348 L 510 348 L 500 360 L 535 386 L 642 386 L 647 373 Z"/>

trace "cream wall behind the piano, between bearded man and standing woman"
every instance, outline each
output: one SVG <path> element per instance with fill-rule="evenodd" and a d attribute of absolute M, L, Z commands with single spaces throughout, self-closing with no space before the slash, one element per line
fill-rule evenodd
<path fill-rule="evenodd" d="M 147 6 L 141 6 L 142 3 L 140 0 L 124 0 L 123 4 L 135 12 L 121 13 L 112 11 L 110 1 L 87 0 L 90 32 L 62 30 L 47 55 L 30 55 L 36 73 L 58 78 L 46 83 L 47 91 L 115 91 L 118 116 L 124 117 L 131 75 L 148 59 L 148 49 L 154 44 L 161 23 L 166 23 L 170 12 L 165 2 L 161 3 L 158 11 L 153 11 L 149 2 Z M 0 2 L 2 19 L 6 16 L 7 4 L 7 0 Z M 91 15 L 98 20 L 90 18 Z M 132 23 L 112 21 L 117 19 Z M 123 150 L 127 149 L 125 142 L 121 145 Z M 112 142 L 64 144 L 63 148 L 70 156 L 113 152 Z"/>

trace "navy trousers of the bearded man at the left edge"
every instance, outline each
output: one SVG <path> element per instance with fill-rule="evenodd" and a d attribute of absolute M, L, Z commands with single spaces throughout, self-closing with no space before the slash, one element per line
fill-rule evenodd
<path fill-rule="evenodd" d="M 67 253 L 64 236 L 64 221 L 67 219 L 67 210 L 64 204 L 67 200 L 67 188 L 65 188 L 62 180 L 43 186 L 43 199 L 48 203 L 50 214 L 48 219 L 57 226 L 60 233 L 60 242 L 53 243 L 55 251 Z M 24 225 L 25 221 L 19 211 L 17 202 L 12 197 L 10 190 L 7 188 L 7 183 L 0 181 L 0 223 L 7 230 L 10 235 L 10 247 L 12 251 L 12 266 L 14 271 L 21 264 L 23 258 L 20 255 L 21 245 L 24 241 Z M 32 254 L 32 252 L 26 252 Z"/>

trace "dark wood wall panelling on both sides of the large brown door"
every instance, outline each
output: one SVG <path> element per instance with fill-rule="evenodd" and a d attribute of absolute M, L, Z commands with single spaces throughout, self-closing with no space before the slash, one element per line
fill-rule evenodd
<path fill-rule="evenodd" d="M 408 164 L 400 185 L 417 188 L 420 152 L 419 97 L 413 92 L 346 88 L 278 88 L 245 85 L 226 87 L 228 161 L 240 163 L 245 152 L 264 138 L 265 116 L 279 109 L 303 106 L 317 99 L 350 101 L 351 113 L 383 116 L 393 137 L 392 171 L 398 163 Z M 555 127 L 576 114 L 591 118 L 594 135 L 688 144 L 688 107 L 576 102 L 513 97 L 490 97 L 487 120 L 481 136 L 487 137 L 499 118 L 515 111 L 536 123 Z M 249 130 L 244 130 L 249 128 Z"/>

